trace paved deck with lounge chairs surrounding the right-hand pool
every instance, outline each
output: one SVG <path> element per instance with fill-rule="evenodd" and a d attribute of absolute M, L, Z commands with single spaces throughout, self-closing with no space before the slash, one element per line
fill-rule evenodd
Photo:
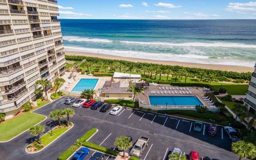
<path fill-rule="evenodd" d="M 165 90 L 163 90 L 163 86 L 165 88 Z M 161 89 L 159 89 L 159 87 Z M 143 105 L 146 105 L 146 106 L 150 106 L 150 102 L 149 102 L 149 98 L 148 96 L 149 95 L 161 95 L 161 96 L 196 96 L 202 103 L 204 106 L 207 106 L 208 108 L 212 108 L 210 107 L 210 105 L 202 98 L 204 97 L 204 92 L 203 92 L 203 88 L 202 87 L 185 87 L 185 88 L 188 88 L 189 91 L 191 92 L 191 94 L 180 94 L 179 91 L 187 91 L 187 90 L 166 90 L 166 87 L 170 88 L 170 87 L 174 87 L 174 88 L 177 88 L 179 86 L 171 86 L 171 85 L 162 85 L 162 86 L 159 86 L 159 85 L 150 85 L 148 87 L 146 87 L 144 89 L 144 93 L 139 93 L 139 100 L 140 100 L 140 105 L 142 104 L 143 102 Z M 179 87 L 180 88 L 180 87 Z M 182 87 L 184 88 L 184 87 Z M 155 91 L 156 93 L 155 94 L 152 94 L 151 91 Z M 157 91 L 160 92 L 159 94 L 157 94 Z M 161 91 L 163 92 L 163 94 L 161 93 Z M 165 94 L 164 92 L 168 92 L 168 91 L 177 91 L 178 93 L 174 93 L 174 94 Z M 154 107 L 159 107 L 159 108 L 165 108 L 166 106 L 164 105 L 159 105 L 159 106 L 154 106 Z M 167 108 L 195 108 L 195 106 L 168 106 L 167 105 Z"/>

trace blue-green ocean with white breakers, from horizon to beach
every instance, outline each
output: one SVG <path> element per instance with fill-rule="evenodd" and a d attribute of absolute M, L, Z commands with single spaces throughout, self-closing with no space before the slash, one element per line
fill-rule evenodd
<path fill-rule="evenodd" d="M 61 19 L 65 50 L 254 67 L 256 20 Z"/>

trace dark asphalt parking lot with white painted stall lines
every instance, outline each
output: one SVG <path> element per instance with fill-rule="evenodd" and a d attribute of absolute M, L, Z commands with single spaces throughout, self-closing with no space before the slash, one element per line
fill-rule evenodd
<path fill-rule="evenodd" d="M 65 98 L 61 98 L 34 112 L 48 115 L 53 109 L 71 107 L 71 105 L 63 104 L 63 101 L 65 101 Z M 218 126 L 217 137 L 212 137 L 207 134 L 209 124 L 203 123 L 203 131 L 196 132 L 193 130 L 194 121 L 188 119 L 129 108 L 123 109 L 116 116 L 109 115 L 108 112 L 101 113 L 98 110 L 88 108 L 74 109 L 76 115 L 71 118 L 71 122 L 73 122 L 75 126 L 72 130 L 63 135 L 61 140 L 55 141 L 54 144 L 47 147 L 41 153 L 32 156 L 22 152 L 21 157 L 57 159 L 59 154 L 72 145 L 76 139 L 81 137 L 87 130 L 95 127 L 99 129 L 99 132 L 90 139 L 90 142 L 111 149 L 115 148 L 115 138 L 120 135 L 132 137 L 133 143 L 141 136 L 148 137 L 149 144 L 143 151 L 141 159 L 164 160 L 167 155 L 170 154 L 173 147 L 180 148 L 182 153 L 186 155 L 188 155 L 191 150 L 194 150 L 198 151 L 201 157 L 208 156 L 217 159 L 237 158 L 237 156 L 230 151 L 231 143 L 227 135 L 223 133 L 221 126 Z M 26 136 L 28 137 L 28 135 Z M 0 144 L 0 147 L 1 146 L 3 145 Z M 23 146 L 24 148 L 26 147 L 25 145 Z M 7 145 L 7 148 L 8 147 L 10 146 Z M 93 152 L 90 154 L 93 154 Z M 2 151 L 0 151 L 0 156 L 1 155 Z M 7 157 L 6 154 L 5 157 Z M 19 159 L 15 157 L 15 154 L 10 157 L 12 159 Z M 113 157 L 107 156 L 105 159 L 113 159 Z"/>

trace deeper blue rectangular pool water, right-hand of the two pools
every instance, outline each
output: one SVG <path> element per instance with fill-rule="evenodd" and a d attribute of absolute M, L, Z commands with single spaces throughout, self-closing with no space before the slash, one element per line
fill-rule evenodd
<path fill-rule="evenodd" d="M 149 95 L 149 101 L 152 106 L 196 106 L 203 103 L 196 96 L 157 96 Z"/>

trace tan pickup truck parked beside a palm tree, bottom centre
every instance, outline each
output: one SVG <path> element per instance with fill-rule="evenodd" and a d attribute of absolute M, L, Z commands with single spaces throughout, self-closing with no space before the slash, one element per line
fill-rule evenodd
<path fill-rule="evenodd" d="M 135 144 L 133 145 L 130 155 L 140 157 L 143 150 L 148 146 L 149 138 L 146 137 L 140 137 Z"/>

